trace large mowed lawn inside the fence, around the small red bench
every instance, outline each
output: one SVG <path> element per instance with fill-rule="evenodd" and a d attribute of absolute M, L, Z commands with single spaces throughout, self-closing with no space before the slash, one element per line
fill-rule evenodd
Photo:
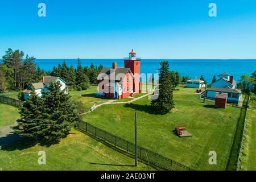
<path fill-rule="evenodd" d="M 215 109 L 214 102 L 203 103 L 195 91 L 179 87 L 174 91 L 175 109 L 165 115 L 152 114 L 145 97 L 132 104 L 102 105 L 84 120 L 133 142 L 137 110 L 139 146 L 197 170 L 225 170 L 241 109 Z M 193 136 L 177 137 L 175 127 L 186 127 Z M 208 163 L 210 151 L 216 151 L 217 165 Z"/>

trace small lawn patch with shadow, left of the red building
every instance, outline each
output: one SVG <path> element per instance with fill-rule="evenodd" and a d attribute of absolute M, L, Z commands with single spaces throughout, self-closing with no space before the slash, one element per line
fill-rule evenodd
<path fill-rule="evenodd" d="M 95 96 L 96 92 L 97 86 L 90 86 L 90 88 L 82 91 L 69 91 L 69 94 L 72 96 L 72 100 L 81 101 L 85 110 L 88 111 L 94 104 L 98 105 L 108 101 L 108 98 Z"/>

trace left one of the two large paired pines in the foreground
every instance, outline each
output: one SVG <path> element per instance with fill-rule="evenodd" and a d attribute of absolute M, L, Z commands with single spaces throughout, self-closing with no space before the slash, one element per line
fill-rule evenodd
<path fill-rule="evenodd" d="M 18 126 L 14 127 L 14 133 L 20 137 L 39 139 L 47 130 L 47 124 L 42 119 L 43 100 L 32 90 L 30 98 L 24 102 L 20 110 Z"/>

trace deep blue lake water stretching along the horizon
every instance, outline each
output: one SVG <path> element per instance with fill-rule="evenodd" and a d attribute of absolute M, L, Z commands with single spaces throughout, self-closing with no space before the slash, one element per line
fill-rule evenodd
<path fill-rule="evenodd" d="M 37 59 L 35 63 L 45 71 L 51 71 L 53 66 L 62 64 L 63 60 L 67 65 L 73 65 L 76 68 L 77 59 Z M 164 59 L 166 60 L 166 59 Z M 160 61 L 163 59 L 142 59 L 141 73 L 156 73 L 160 68 Z M 235 80 L 240 80 L 241 75 L 251 75 L 256 70 L 256 60 L 167 60 L 170 63 L 170 70 L 177 71 L 181 76 L 191 78 L 201 75 L 208 81 L 212 81 L 213 75 L 220 73 L 230 73 Z M 83 67 L 94 65 L 103 65 L 112 67 L 112 63 L 117 62 L 118 67 L 124 67 L 123 59 L 81 59 Z"/>

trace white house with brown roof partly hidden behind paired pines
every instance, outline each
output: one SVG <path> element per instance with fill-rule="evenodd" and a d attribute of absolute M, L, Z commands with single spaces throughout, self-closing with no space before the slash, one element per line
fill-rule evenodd
<path fill-rule="evenodd" d="M 57 82 L 59 81 L 60 82 L 60 90 L 63 91 L 66 89 L 66 82 L 64 80 L 62 80 L 60 77 L 54 77 L 54 76 L 44 76 L 42 78 L 42 80 L 40 80 L 38 83 L 34 83 L 34 84 L 31 84 L 30 86 L 30 89 L 29 90 L 24 90 L 22 93 L 23 93 L 23 98 L 24 100 L 28 100 L 28 98 L 30 98 L 30 95 L 31 95 L 31 92 L 32 92 L 32 88 L 35 89 L 35 93 L 39 96 L 39 97 L 43 97 L 43 94 L 42 94 L 42 90 L 44 92 L 47 92 L 48 91 L 48 86 L 51 82 Z M 68 92 L 65 90 L 64 91 L 65 94 L 67 94 Z"/>

